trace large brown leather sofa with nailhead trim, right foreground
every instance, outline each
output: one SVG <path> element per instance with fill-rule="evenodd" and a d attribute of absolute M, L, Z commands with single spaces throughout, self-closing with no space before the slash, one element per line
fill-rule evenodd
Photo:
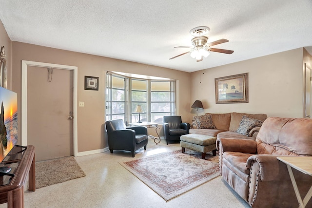
<path fill-rule="evenodd" d="M 217 138 L 223 179 L 253 208 L 298 208 L 279 155 L 312 156 L 312 119 L 267 118 L 256 140 Z M 293 170 L 302 198 L 312 177 Z M 306 207 L 312 207 L 312 200 Z"/>

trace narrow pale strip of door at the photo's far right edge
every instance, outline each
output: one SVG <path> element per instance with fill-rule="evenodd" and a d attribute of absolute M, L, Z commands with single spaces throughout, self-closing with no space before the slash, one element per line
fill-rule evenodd
<path fill-rule="evenodd" d="M 305 64 L 305 117 L 312 118 L 312 70 Z"/>

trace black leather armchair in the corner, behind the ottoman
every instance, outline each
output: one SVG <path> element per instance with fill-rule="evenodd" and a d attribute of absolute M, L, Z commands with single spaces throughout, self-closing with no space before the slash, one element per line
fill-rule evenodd
<path fill-rule="evenodd" d="M 170 141 L 180 142 L 180 136 L 190 132 L 190 124 L 183 123 L 180 115 L 165 115 L 162 121 L 167 144 Z"/>

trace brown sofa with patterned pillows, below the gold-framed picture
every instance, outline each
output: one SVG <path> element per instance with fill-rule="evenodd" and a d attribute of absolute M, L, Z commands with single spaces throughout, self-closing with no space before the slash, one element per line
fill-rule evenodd
<path fill-rule="evenodd" d="M 210 115 L 210 116 L 207 116 Z M 236 132 L 239 128 L 242 117 L 246 115 L 248 117 L 261 120 L 262 122 L 267 118 L 267 114 L 259 113 L 259 114 L 249 114 L 249 113 L 205 113 L 204 116 L 194 116 L 190 133 L 204 134 L 208 136 L 214 137 L 222 137 L 222 138 L 237 138 L 237 139 L 253 139 L 255 140 L 257 132 L 260 127 L 254 127 L 248 133 L 248 135 L 243 135 L 241 133 Z M 196 122 L 196 118 L 211 118 L 215 129 L 203 129 L 198 126 L 198 122 Z M 197 118 L 197 119 L 198 119 Z"/>

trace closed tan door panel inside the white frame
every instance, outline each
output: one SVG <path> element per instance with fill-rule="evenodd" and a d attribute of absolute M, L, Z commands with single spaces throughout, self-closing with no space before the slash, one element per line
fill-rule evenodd
<path fill-rule="evenodd" d="M 28 67 L 27 145 L 36 161 L 73 155 L 73 71 Z"/>

